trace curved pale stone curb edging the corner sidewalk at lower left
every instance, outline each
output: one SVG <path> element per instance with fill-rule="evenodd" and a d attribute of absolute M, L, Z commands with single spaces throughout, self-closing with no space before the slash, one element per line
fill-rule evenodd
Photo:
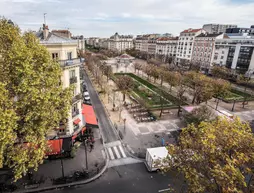
<path fill-rule="evenodd" d="M 84 181 L 79 181 L 79 182 L 72 182 L 68 184 L 62 184 L 62 185 L 53 185 L 49 187 L 44 187 L 44 188 L 37 188 L 37 189 L 32 189 L 32 190 L 23 190 L 23 191 L 15 191 L 15 193 L 29 193 L 29 192 L 42 192 L 42 191 L 48 191 L 48 190 L 53 190 L 53 189 L 60 189 L 60 188 L 66 188 L 66 187 L 72 187 L 72 186 L 78 186 L 78 185 L 83 185 L 83 184 L 88 184 L 96 179 L 98 179 L 108 168 L 108 163 L 109 159 L 106 159 L 106 164 L 103 167 L 103 169 L 94 177 L 84 180 Z"/>

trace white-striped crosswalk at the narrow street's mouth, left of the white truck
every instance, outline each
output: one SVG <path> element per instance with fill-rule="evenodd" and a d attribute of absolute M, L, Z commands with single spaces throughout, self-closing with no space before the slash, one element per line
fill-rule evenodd
<path fill-rule="evenodd" d="M 124 152 L 123 146 L 119 141 L 106 144 L 106 150 L 108 152 L 110 160 L 122 159 L 127 157 Z"/>

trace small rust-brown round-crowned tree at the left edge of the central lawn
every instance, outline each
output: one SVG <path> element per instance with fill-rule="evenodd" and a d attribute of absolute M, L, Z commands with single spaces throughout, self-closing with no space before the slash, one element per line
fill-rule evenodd
<path fill-rule="evenodd" d="M 116 85 L 123 93 L 123 101 L 125 101 L 126 93 L 134 86 L 133 79 L 127 75 L 117 77 Z"/>

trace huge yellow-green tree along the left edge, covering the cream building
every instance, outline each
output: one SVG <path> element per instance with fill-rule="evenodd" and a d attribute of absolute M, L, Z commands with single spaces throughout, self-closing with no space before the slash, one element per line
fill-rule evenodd
<path fill-rule="evenodd" d="M 0 29 L 0 166 L 13 169 L 17 180 L 42 163 L 45 136 L 68 117 L 72 92 L 63 89 L 60 65 L 32 33 L 22 36 L 5 19 Z"/>

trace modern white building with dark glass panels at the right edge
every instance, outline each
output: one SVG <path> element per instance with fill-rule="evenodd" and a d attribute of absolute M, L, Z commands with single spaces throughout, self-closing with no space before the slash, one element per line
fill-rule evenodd
<path fill-rule="evenodd" d="M 238 37 L 215 41 L 213 63 L 239 73 L 254 70 L 254 38 Z"/>

